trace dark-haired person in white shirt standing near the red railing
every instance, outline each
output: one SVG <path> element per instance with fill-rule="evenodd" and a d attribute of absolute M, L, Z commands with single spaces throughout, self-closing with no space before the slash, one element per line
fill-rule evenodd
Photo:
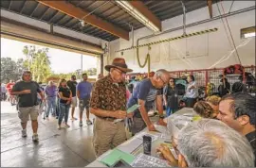
<path fill-rule="evenodd" d="M 186 98 L 186 106 L 188 108 L 192 108 L 196 102 L 196 98 L 198 97 L 198 88 L 196 86 L 194 76 L 192 75 L 188 76 L 187 80 L 189 84 L 184 97 Z"/>

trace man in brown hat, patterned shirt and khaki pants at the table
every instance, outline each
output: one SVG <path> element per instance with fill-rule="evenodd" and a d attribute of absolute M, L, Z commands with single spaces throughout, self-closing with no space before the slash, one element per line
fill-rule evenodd
<path fill-rule="evenodd" d="M 124 75 L 132 70 L 121 58 L 114 59 L 105 70 L 109 75 L 95 83 L 90 100 L 90 112 L 96 115 L 93 145 L 97 157 L 126 141 L 124 122 L 114 123 L 114 120 L 132 117 L 126 113 L 124 84 Z"/>

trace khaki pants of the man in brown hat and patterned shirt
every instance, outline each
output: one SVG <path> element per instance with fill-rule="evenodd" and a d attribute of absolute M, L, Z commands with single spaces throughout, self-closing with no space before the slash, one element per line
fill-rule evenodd
<path fill-rule="evenodd" d="M 109 149 L 126 141 L 126 132 L 123 122 L 114 124 L 112 121 L 97 117 L 93 132 L 93 145 L 97 158 Z"/>

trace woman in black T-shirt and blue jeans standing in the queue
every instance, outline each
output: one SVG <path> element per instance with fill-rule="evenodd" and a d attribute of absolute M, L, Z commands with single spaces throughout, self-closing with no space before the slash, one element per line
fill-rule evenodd
<path fill-rule="evenodd" d="M 64 126 L 70 127 L 67 124 L 69 108 L 72 101 L 72 92 L 66 85 L 65 79 L 62 79 L 59 84 L 59 97 L 60 97 L 60 113 L 58 118 L 58 129 L 62 128 L 62 121 L 64 118 Z"/>

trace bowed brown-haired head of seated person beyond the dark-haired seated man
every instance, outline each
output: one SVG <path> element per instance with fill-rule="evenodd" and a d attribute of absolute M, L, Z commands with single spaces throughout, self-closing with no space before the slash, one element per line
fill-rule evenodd
<path fill-rule="evenodd" d="M 193 110 L 203 118 L 215 119 L 218 115 L 218 110 L 212 109 L 205 101 L 195 103 Z"/>

